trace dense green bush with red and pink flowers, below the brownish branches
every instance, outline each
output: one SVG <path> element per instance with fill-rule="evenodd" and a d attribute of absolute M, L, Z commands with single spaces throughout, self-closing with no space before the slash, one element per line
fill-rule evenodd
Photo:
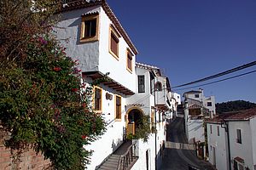
<path fill-rule="evenodd" d="M 92 88 L 81 85 L 77 63 L 54 37 L 35 36 L 28 48 L 22 63 L 0 68 L 0 120 L 10 133 L 6 145 L 32 146 L 55 169 L 84 169 L 90 156 L 84 147 L 104 129 L 102 117 L 90 108 Z"/>

